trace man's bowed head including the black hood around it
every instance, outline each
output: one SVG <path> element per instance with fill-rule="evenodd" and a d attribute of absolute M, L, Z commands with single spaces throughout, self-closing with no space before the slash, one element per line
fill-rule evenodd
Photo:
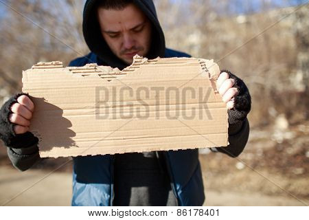
<path fill-rule="evenodd" d="M 87 0 L 82 33 L 92 52 L 89 56 L 98 65 L 124 69 L 135 53 L 149 59 L 165 56 L 164 34 L 152 0 Z"/>

